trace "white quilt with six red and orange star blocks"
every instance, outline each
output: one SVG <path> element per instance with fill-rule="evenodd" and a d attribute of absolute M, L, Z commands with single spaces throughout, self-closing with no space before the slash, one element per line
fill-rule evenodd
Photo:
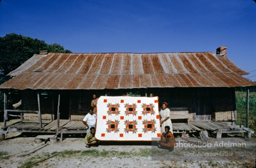
<path fill-rule="evenodd" d="M 161 137 L 157 97 L 101 96 L 95 137 L 99 140 L 152 140 Z"/>

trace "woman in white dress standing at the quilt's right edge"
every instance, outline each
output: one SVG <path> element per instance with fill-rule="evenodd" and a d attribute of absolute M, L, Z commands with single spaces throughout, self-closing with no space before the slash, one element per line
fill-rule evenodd
<path fill-rule="evenodd" d="M 169 126 L 170 132 L 172 133 L 172 121 L 170 120 L 170 110 L 167 108 L 167 105 L 167 102 L 163 102 L 162 109 L 160 111 L 161 133 L 165 133 L 165 126 Z"/>

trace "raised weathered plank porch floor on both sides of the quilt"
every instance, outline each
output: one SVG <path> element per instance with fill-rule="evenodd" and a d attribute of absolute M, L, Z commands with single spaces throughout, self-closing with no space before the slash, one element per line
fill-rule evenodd
<path fill-rule="evenodd" d="M 59 129 L 57 119 L 42 120 L 42 127 L 38 120 L 23 119 L 3 127 L 0 131 L 1 134 L 5 134 L 12 131 L 18 131 L 22 133 L 47 133 L 60 135 L 61 141 L 64 134 L 76 134 L 86 133 L 86 127 L 82 121 L 70 121 L 68 119 L 59 120 Z M 231 122 L 224 121 L 190 121 L 189 123 L 172 123 L 172 130 L 174 135 L 181 133 L 200 133 L 200 131 L 207 131 L 216 135 L 216 138 L 221 138 L 222 133 L 245 133 L 247 137 L 250 137 L 251 133 L 249 129 L 243 127 L 243 125 L 235 125 Z"/>

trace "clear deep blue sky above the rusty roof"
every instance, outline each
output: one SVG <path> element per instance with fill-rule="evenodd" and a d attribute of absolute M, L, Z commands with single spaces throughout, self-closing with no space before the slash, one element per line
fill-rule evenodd
<path fill-rule="evenodd" d="M 7 33 L 59 43 L 72 53 L 216 52 L 256 81 L 253 0 L 0 0 Z"/>

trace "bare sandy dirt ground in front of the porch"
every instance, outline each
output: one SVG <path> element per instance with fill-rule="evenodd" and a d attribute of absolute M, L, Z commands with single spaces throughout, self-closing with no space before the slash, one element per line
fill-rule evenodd
<path fill-rule="evenodd" d="M 78 135 L 36 144 L 35 136 L 8 133 L 0 142 L 0 167 L 255 167 L 256 160 L 255 138 L 209 138 L 204 144 L 190 138 L 190 143 L 178 141 L 169 152 L 152 148 L 149 142 L 101 142 L 86 148 Z M 28 156 L 19 156 L 45 143 Z"/>

